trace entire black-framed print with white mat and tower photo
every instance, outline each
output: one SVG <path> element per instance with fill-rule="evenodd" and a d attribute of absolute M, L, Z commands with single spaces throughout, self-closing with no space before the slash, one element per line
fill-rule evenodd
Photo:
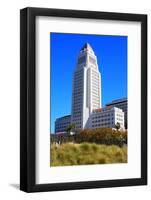
<path fill-rule="evenodd" d="M 20 12 L 20 189 L 147 184 L 147 16 Z"/>

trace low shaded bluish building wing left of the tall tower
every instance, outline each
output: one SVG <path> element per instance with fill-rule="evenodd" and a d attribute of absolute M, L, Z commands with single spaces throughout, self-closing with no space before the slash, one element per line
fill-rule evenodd
<path fill-rule="evenodd" d="M 71 115 L 57 118 L 55 121 L 55 133 L 66 132 L 67 127 L 71 124 Z"/>

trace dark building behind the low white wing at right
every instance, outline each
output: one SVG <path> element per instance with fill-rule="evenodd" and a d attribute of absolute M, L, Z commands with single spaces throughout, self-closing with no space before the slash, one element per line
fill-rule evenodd
<path fill-rule="evenodd" d="M 127 129 L 128 122 L 127 122 L 127 98 L 117 99 L 112 101 L 111 103 L 106 104 L 106 106 L 117 107 L 123 110 L 124 112 L 124 125 Z"/>

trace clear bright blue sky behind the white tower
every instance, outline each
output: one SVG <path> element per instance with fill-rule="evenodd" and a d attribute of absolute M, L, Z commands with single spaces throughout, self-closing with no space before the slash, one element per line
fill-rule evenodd
<path fill-rule="evenodd" d="M 73 72 L 86 42 L 98 59 L 102 106 L 127 97 L 127 36 L 50 33 L 51 132 L 56 118 L 71 114 Z"/>

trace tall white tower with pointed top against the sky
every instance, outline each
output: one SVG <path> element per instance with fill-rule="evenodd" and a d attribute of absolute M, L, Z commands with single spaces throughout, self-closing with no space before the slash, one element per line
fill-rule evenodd
<path fill-rule="evenodd" d="M 93 109 L 101 107 L 101 74 L 97 57 L 86 43 L 80 50 L 73 77 L 72 117 L 76 129 L 89 127 Z"/>

